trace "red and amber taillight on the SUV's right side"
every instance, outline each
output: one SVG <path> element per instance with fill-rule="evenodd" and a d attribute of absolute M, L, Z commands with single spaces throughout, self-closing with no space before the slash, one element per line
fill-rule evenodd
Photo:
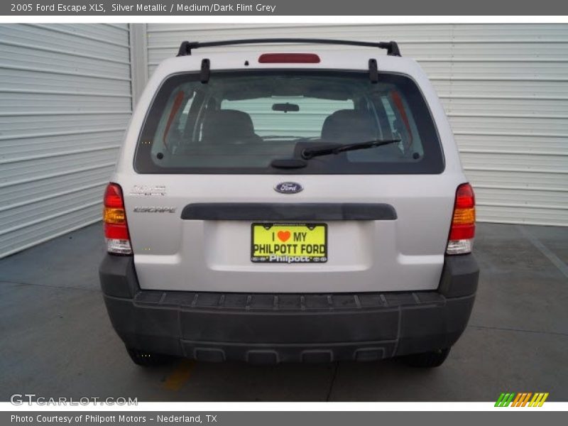
<path fill-rule="evenodd" d="M 469 183 L 457 187 L 447 254 L 471 253 L 475 236 L 475 195 Z"/>

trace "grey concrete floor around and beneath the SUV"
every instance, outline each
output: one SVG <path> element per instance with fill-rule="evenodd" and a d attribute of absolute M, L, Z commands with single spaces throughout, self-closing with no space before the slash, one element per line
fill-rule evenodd
<path fill-rule="evenodd" d="M 503 391 L 568 400 L 568 228 L 479 224 L 474 312 L 430 371 L 392 360 L 135 366 L 99 292 L 101 234 L 89 226 L 0 261 L 0 400 L 488 401 Z"/>

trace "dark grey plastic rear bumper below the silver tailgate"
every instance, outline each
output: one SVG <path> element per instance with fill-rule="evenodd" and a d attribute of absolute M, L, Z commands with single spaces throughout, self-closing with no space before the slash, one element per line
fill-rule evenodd
<path fill-rule="evenodd" d="M 126 346 L 205 361 L 369 361 L 452 346 L 474 304 L 472 255 L 447 257 L 437 291 L 249 294 L 140 290 L 133 259 L 99 274 Z"/>

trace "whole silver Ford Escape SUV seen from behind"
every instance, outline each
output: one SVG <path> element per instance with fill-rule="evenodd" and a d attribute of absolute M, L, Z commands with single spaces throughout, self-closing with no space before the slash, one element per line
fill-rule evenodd
<path fill-rule="evenodd" d="M 205 49 L 245 43 L 373 49 Z M 396 43 L 184 42 L 104 195 L 104 300 L 141 365 L 439 366 L 474 304 L 474 208 L 435 90 Z"/>

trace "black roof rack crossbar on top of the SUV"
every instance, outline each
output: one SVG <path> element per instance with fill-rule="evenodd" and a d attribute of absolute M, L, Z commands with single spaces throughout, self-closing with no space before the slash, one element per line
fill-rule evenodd
<path fill-rule="evenodd" d="M 198 48 L 214 48 L 217 46 L 261 43 L 312 43 L 361 46 L 364 48 L 386 49 L 387 55 L 400 56 L 400 50 L 398 49 L 398 44 L 395 41 L 381 41 L 378 43 L 372 43 L 368 41 L 334 40 L 332 38 L 247 38 L 243 40 L 206 41 L 203 43 L 200 43 L 198 41 L 184 41 L 180 45 L 178 56 L 191 55 L 191 51 Z"/>

